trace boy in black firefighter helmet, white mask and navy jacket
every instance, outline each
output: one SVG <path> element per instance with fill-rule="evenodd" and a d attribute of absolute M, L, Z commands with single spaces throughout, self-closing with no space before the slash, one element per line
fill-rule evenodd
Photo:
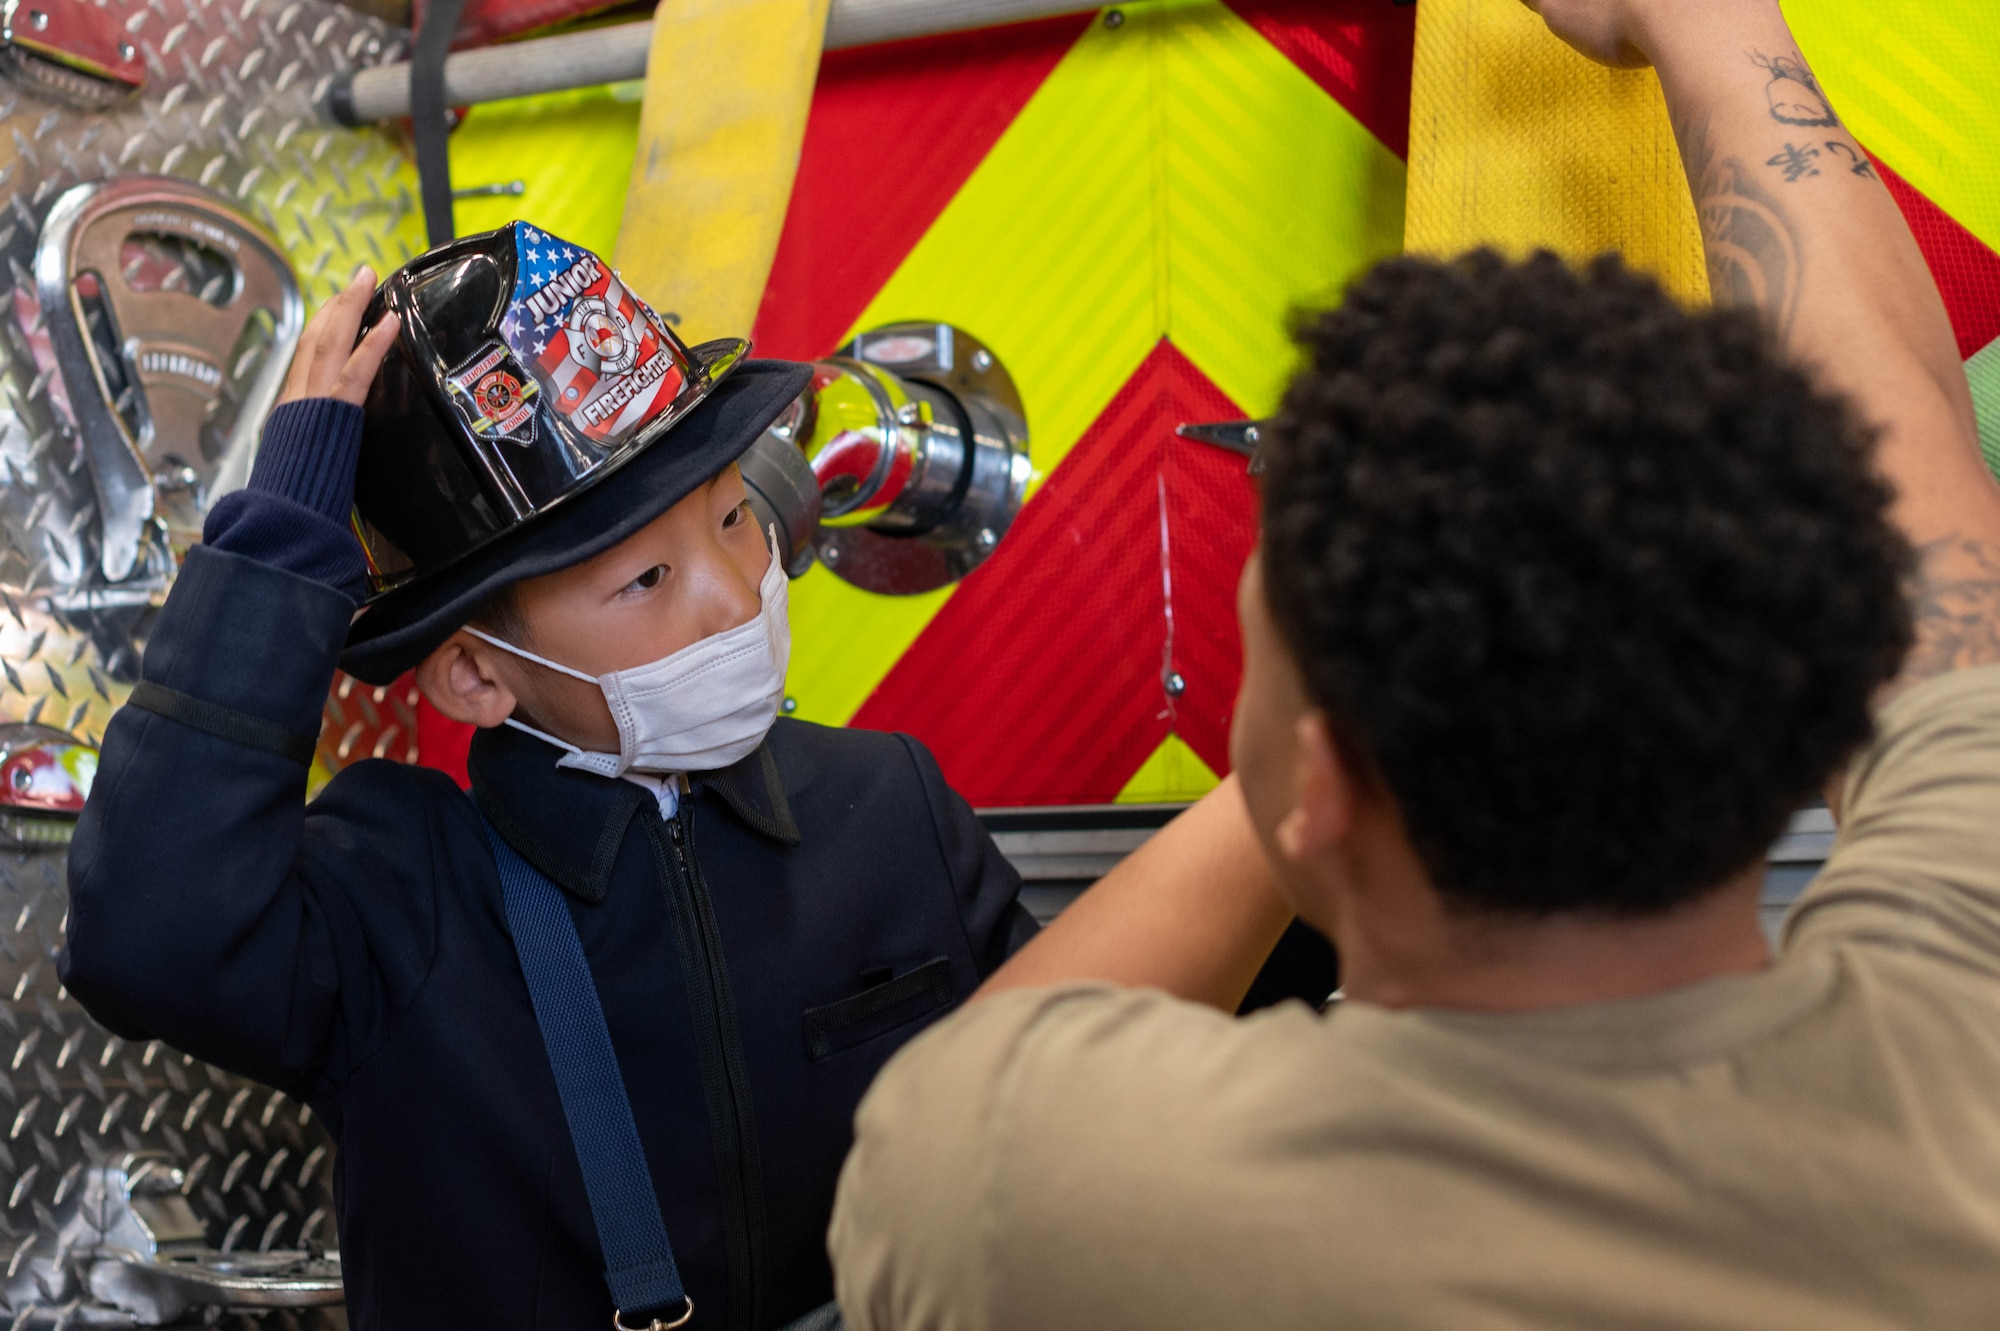
<path fill-rule="evenodd" d="M 856 1101 L 1034 931 L 1020 879 L 916 741 L 776 719 L 736 458 L 806 366 L 526 224 L 372 288 L 106 733 L 64 981 L 322 1115 L 358 1327 L 794 1319 Z M 336 664 L 482 727 L 470 797 L 362 761 L 308 805 Z"/>

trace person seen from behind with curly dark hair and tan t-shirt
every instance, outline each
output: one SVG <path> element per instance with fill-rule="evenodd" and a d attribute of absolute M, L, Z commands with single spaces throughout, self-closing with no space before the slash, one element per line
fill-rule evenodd
<path fill-rule="evenodd" d="M 1536 8 L 1658 68 L 1718 308 L 1482 252 L 1300 328 L 1236 777 L 882 1073 L 850 1325 L 1992 1325 L 2000 486 L 1944 306 L 1776 0 Z M 1346 1001 L 1230 1019 L 1292 909 Z"/>

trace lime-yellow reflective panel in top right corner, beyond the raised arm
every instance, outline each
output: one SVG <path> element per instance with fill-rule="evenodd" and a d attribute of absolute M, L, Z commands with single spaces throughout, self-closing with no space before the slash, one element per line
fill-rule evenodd
<path fill-rule="evenodd" d="M 1784 14 L 1854 136 L 2000 248 L 2000 6 L 1792 0 Z"/>

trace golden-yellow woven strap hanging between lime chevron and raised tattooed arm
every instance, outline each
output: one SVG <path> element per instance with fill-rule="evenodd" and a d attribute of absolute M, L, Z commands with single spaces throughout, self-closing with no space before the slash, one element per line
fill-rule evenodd
<path fill-rule="evenodd" d="M 1408 208 L 1410 252 L 1622 250 L 1708 300 L 1660 80 L 1584 60 L 1518 0 L 1418 6 Z"/>

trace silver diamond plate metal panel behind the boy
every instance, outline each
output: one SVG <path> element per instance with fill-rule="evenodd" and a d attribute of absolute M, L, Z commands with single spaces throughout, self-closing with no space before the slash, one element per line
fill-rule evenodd
<path fill-rule="evenodd" d="M 320 0 L 98 0 L 140 50 L 148 84 L 108 112 L 0 78 L 0 719 L 96 743 L 124 701 L 170 570 L 96 574 L 90 476 L 56 398 L 32 302 L 46 208 L 70 186 L 134 174 L 200 182 L 280 238 L 308 304 L 360 262 L 422 244 L 414 174 L 386 132 L 330 126 L 328 80 L 406 54 L 402 30 Z M 40 346 L 38 346 L 40 342 Z M 246 376 L 250 366 L 234 366 Z M 408 685 L 336 681 L 318 777 L 414 749 Z M 66 1289 L 54 1211 L 84 1169 L 158 1149 L 222 1249 L 334 1243 L 332 1143 L 312 1111 L 164 1045 L 110 1035 L 56 981 L 62 851 L 0 851 L 0 1305 L 14 1327 L 130 1325 Z M 264 1325 L 338 1313 L 272 1313 Z"/>

